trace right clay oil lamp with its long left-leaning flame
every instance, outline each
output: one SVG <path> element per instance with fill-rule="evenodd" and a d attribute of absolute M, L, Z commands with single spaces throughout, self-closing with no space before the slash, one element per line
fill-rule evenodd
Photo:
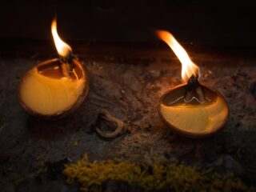
<path fill-rule="evenodd" d="M 229 107 L 225 98 L 198 82 L 199 67 L 172 34 L 165 30 L 158 30 L 157 34 L 182 62 L 182 80 L 185 82 L 162 95 L 158 104 L 162 121 L 178 134 L 191 138 L 214 134 L 228 118 Z"/>

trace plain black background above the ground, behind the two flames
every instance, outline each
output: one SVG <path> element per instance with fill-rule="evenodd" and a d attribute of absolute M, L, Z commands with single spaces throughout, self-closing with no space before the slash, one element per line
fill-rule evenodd
<path fill-rule="evenodd" d="M 51 40 L 58 16 L 63 39 L 86 42 L 156 42 L 170 30 L 181 42 L 206 46 L 256 46 L 253 2 L 190 0 L 2 1 L 0 39 Z"/>

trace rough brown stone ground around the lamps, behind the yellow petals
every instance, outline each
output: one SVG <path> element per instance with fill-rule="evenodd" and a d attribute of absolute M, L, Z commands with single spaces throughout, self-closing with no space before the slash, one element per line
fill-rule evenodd
<path fill-rule="evenodd" d="M 78 55 L 90 72 L 90 93 L 74 114 L 58 121 L 31 117 L 17 97 L 22 74 L 49 57 L 1 55 L 0 186 L 4 191 L 76 191 L 78 186 L 66 185 L 59 175 L 30 176 L 42 162 L 75 162 L 85 153 L 91 160 L 118 157 L 146 163 L 161 162 L 154 158 L 160 154 L 173 162 L 218 167 L 256 183 L 255 58 L 192 54 L 201 69 L 201 82 L 225 96 L 230 118 L 217 134 L 191 139 L 172 133 L 158 117 L 160 96 L 181 82 L 181 66 L 173 55 L 124 59 Z M 130 133 L 114 140 L 99 138 L 93 125 L 103 108 L 130 123 Z M 22 178 L 27 179 L 15 187 Z"/>

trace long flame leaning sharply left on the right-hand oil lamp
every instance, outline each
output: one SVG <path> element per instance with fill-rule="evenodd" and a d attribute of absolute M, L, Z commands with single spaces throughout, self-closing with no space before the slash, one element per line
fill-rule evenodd
<path fill-rule="evenodd" d="M 180 62 L 182 62 L 182 80 L 187 82 L 192 75 L 200 75 L 199 67 L 191 61 L 189 55 L 186 53 L 186 50 L 177 42 L 174 38 L 174 35 L 166 30 L 158 30 L 158 37 L 162 41 L 166 42 L 168 46 L 174 51 L 174 54 L 178 57 Z"/>

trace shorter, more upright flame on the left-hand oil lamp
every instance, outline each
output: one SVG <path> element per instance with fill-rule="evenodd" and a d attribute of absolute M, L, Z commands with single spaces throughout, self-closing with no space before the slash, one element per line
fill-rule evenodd
<path fill-rule="evenodd" d="M 54 18 L 53 22 L 51 23 L 51 33 L 53 34 L 54 43 L 58 51 L 58 54 L 64 58 L 69 56 L 72 49 L 68 44 L 66 44 L 66 42 L 63 42 L 62 39 L 59 38 L 56 18 Z"/>

